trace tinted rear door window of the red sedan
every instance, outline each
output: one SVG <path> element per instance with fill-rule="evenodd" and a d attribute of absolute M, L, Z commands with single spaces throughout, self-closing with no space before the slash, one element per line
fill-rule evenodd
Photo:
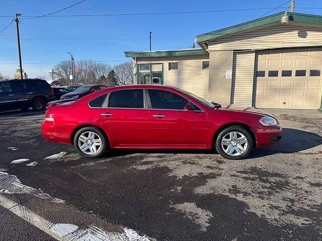
<path fill-rule="evenodd" d="M 143 90 L 113 91 L 109 95 L 110 108 L 144 108 Z"/>

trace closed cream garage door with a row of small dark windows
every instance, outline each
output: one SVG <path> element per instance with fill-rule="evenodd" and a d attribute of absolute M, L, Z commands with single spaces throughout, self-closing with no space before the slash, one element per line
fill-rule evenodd
<path fill-rule="evenodd" d="M 257 54 L 256 107 L 317 109 L 321 104 L 321 50 Z"/>

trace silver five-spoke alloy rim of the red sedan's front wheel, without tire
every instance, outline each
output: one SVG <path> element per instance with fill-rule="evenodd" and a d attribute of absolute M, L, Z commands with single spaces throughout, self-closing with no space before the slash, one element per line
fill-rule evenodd
<path fill-rule="evenodd" d="M 238 156 L 247 149 L 248 141 L 244 134 L 239 131 L 228 132 L 221 140 L 221 147 L 226 154 Z"/>

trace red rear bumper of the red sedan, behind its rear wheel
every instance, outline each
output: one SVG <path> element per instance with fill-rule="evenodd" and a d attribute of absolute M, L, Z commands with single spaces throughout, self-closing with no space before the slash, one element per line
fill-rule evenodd
<path fill-rule="evenodd" d="M 47 141 L 71 144 L 72 129 L 55 125 L 54 121 L 45 120 L 41 126 L 41 134 Z"/>

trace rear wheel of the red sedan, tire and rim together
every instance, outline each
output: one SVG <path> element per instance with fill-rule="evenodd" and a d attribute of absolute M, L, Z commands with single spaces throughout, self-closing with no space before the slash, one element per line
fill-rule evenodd
<path fill-rule="evenodd" d="M 98 145 L 100 140 L 100 145 Z M 105 134 L 94 126 L 84 127 L 74 136 L 76 151 L 88 158 L 97 158 L 104 154 L 108 147 Z"/>

